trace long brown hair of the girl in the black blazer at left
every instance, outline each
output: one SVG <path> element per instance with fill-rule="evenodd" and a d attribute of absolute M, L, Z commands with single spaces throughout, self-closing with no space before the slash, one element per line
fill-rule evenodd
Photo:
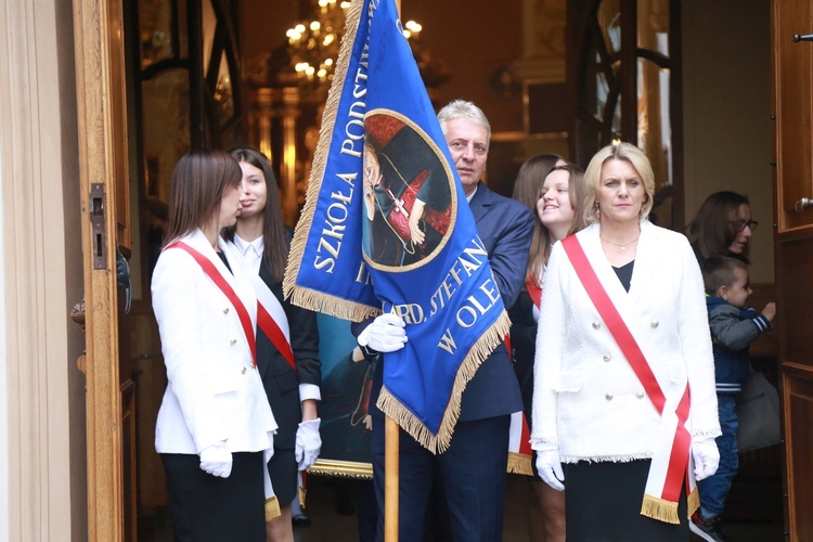
<path fill-rule="evenodd" d="M 266 178 L 266 208 L 262 210 L 262 262 L 271 273 L 274 282 L 282 282 L 285 276 L 285 266 L 288 261 L 288 246 L 285 240 L 285 224 L 282 221 L 282 205 L 276 177 L 271 168 L 271 162 L 261 152 L 250 147 L 234 147 L 229 154 L 237 160 L 245 162 L 262 171 Z M 237 218 L 240 220 L 240 218 Z M 234 240 L 235 228 L 227 228 L 223 236 Z"/>

